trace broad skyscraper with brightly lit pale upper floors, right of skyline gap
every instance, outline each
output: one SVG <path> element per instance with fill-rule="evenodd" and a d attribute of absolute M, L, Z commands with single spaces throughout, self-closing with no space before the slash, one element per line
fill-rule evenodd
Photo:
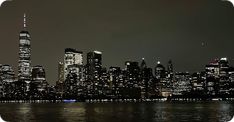
<path fill-rule="evenodd" d="M 62 64 L 61 64 L 62 65 Z M 78 86 L 83 81 L 83 52 L 73 48 L 66 48 L 64 55 L 64 83 L 59 90 L 63 97 L 74 97 L 77 95 Z M 61 82 L 61 81 L 60 81 Z M 59 87 L 59 86 L 58 86 Z"/>

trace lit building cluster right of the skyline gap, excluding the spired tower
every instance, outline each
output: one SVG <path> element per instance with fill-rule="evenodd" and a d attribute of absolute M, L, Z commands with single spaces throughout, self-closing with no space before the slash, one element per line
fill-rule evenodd
<path fill-rule="evenodd" d="M 68 55 L 71 57 L 67 58 Z M 64 62 L 59 62 L 55 86 L 59 99 L 206 100 L 217 97 L 226 99 L 234 95 L 234 68 L 229 66 L 227 58 L 215 59 L 205 66 L 204 71 L 191 74 L 174 72 L 171 60 L 166 66 L 157 62 L 154 69 L 147 67 L 144 58 L 140 63 L 126 61 L 123 69 L 107 69 L 102 66 L 102 52 L 87 53 L 86 64 L 83 64 L 82 56 L 81 51 L 65 49 Z"/>

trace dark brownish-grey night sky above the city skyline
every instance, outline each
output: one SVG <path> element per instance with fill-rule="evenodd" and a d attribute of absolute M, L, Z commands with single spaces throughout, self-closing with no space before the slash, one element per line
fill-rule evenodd
<path fill-rule="evenodd" d="M 127 60 L 173 61 L 201 71 L 214 58 L 234 63 L 234 7 L 222 0 L 12 0 L 0 7 L 0 63 L 17 70 L 19 32 L 27 14 L 32 65 L 55 84 L 64 48 L 103 52 L 103 66 Z M 86 63 L 86 60 L 84 61 Z M 17 71 L 15 72 L 17 74 Z"/>

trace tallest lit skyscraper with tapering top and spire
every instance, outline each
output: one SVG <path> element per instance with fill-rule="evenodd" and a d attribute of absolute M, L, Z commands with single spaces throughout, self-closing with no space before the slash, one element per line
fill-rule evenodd
<path fill-rule="evenodd" d="M 30 34 L 26 29 L 26 15 L 24 26 L 19 36 L 18 80 L 29 83 L 31 81 L 31 44 Z"/>

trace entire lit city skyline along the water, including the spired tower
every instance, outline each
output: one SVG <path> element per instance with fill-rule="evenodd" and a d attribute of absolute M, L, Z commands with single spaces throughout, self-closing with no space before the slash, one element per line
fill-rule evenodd
<path fill-rule="evenodd" d="M 227 58 L 211 61 L 201 72 L 175 72 L 172 61 L 154 68 L 142 61 L 126 61 L 125 68 L 102 66 L 102 52 L 66 48 L 58 62 L 58 80 L 49 86 L 43 66 L 31 66 L 31 38 L 19 35 L 18 77 L 10 65 L 0 65 L 0 100 L 231 98 L 234 68 Z"/>

